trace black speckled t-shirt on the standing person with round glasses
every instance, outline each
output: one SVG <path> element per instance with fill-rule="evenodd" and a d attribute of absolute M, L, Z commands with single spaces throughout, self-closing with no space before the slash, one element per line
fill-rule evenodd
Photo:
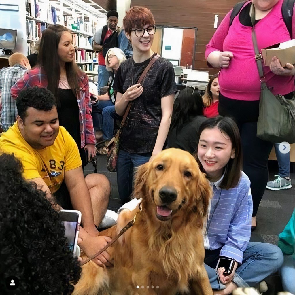
<path fill-rule="evenodd" d="M 115 76 L 114 90 L 124 94 L 130 86 L 137 84 L 149 62 L 150 58 L 142 63 L 135 63 L 132 58 L 124 61 Z M 120 148 L 130 153 L 152 152 L 162 118 L 161 98 L 176 92 L 173 65 L 160 57 L 145 77 L 143 93 L 132 101 L 126 127 L 120 135 Z"/>

